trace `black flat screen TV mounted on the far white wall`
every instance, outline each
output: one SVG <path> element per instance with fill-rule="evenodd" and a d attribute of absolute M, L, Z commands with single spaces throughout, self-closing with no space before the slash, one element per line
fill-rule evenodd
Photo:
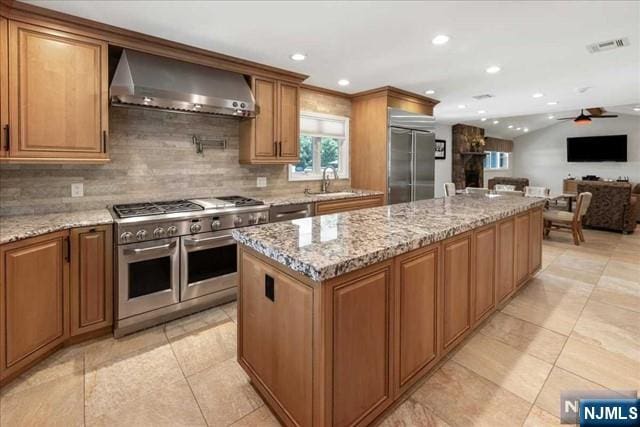
<path fill-rule="evenodd" d="M 626 162 L 627 135 L 567 138 L 567 162 Z"/>

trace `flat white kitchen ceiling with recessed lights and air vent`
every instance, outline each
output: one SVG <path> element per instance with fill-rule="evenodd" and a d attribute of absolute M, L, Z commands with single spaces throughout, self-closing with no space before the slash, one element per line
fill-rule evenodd
<path fill-rule="evenodd" d="M 325 88 L 433 89 L 441 101 L 436 118 L 445 122 L 640 103 L 635 1 L 30 3 L 305 73 L 306 83 Z M 438 34 L 449 42 L 433 45 Z M 631 45 L 595 54 L 585 48 L 621 37 Z M 292 61 L 295 52 L 307 59 Z M 486 73 L 491 65 L 501 71 Z M 340 87 L 339 79 L 351 84 Z M 544 96 L 533 98 L 536 92 Z M 486 93 L 495 97 L 472 98 Z"/>

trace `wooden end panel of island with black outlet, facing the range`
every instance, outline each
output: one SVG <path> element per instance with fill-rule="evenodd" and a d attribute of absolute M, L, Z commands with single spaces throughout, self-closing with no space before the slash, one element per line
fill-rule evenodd
<path fill-rule="evenodd" d="M 311 425 L 313 292 L 246 252 L 241 257 L 239 358 L 289 424 Z"/>

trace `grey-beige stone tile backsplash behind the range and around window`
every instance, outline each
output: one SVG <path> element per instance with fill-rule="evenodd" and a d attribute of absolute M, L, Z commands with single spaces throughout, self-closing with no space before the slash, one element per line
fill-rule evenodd
<path fill-rule="evenodd" d="M 350 101 L 303 90 L 302 109 L 349 115 Z M 0 215 L 103 208 L 115 203 L 228 194 L 257 195 L 319 189 L 318 181 L 289 182 L 286 166 L 238 162 L 239 119 L 112 107 L 106 165 L 1 165 Z M 226 150 L 196 154 L 191 136 L 225 138 Z M 256 187 L 266 177 L 267 188 Z M 71 197 L 72 183 L 84 197 Z M 335 188 L 346 188 L 340 180 Z"/>

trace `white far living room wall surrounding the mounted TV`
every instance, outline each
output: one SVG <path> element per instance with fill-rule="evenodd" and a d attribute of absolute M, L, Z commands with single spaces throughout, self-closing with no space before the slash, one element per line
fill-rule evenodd
<path fill-rule="evenodd" d="M 627 135 L 627 162 L 567 163 L 567 137 Z M 574 177 L 598 175 L 601 178 L 629 176 L 640 182 L 640 119 L 620 115 L 615 119 L 594 119 L 589 125 L 573 121 L 559 122 L 514 139 L 513 176 L 529 178 L 534 186 L 562 191 L 562 180 L 571 173 Z"/>

